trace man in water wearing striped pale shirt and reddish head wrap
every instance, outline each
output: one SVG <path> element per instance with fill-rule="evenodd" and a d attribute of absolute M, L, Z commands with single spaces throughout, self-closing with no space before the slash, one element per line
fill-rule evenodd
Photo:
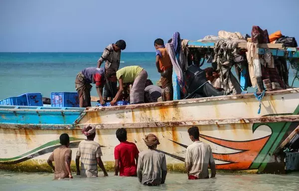
<path fill-rule="evenodd" d="M 77 175 L 81 177 L 98 177 L 98 167 L 103 170 L 104 176 L 107 177 L 108 174 L 102 162 L 101 156 L 101 146 L 99 143 L 95 142 L 96 127 L 94 125 L 86 125 L 82 129 L 82 133 L 87 137 L 87 139 L 81 141 L 78 146 L 77 157 L 76 157 L 76 168 Z M 81 170 L 79 168 L 79 159 L 81 157 Z"/>

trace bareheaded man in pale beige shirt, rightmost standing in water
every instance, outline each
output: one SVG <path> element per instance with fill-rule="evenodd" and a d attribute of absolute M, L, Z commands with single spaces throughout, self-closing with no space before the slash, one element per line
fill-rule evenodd
<path fill-rule="evenodd" d="M 187 147 L 185 167 L 189 180 L 208 179 L 208 165 L 211 169 L 211 178 L 216 175 L 216 166 L 210 145 L 199 140 L 198 127 L 188 129 L 189 137 L 193 143 Z"/>

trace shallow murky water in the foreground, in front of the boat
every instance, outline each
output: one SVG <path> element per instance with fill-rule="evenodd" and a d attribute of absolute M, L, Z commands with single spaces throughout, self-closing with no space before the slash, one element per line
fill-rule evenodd
<path fill-rule="evenodd" d="M 102 173 L 99 173 L 102 176 Z M 109 177 L 53 180 L 48 173 L 0 171 L 1 191 L 298 191 L 299 173 L 288 175 L 217 174 L 214 179 L 187 180 L 186 174 L 168 173 L 158 187 L 139 184 L 136 177 Z"/>

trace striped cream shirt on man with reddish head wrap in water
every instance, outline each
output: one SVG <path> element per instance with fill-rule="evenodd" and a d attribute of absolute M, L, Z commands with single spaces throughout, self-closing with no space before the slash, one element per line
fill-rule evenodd
<path fill-rule="evenodd" d="M 99 143 L 90 140 L 83 140 L 79 143 L 77 156 L 81 159 L 80 175 L 82 177 L 97 177 L 97 158 L 103 156 Z"/>

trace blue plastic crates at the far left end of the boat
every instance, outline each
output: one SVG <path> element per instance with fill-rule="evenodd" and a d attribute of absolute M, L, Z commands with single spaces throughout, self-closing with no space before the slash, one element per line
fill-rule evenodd
<path fill-rule="evenodd" d="M 26 93 L 0 100 L 0 105 L 43 106 L 40 93 Z"/>

